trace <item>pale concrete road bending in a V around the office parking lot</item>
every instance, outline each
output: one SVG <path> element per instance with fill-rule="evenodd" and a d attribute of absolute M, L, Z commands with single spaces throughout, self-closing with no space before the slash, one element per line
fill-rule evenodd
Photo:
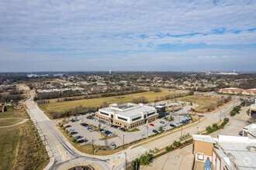
<path fill-rule="evenodd" d="M 47 144 L 46 148 L 47 153 L 50 156 L 50 164 L 47 165 L 47 168 L 45 169 L 66 169 L 65 167 L 67 167 L 67 165 L 75 165 L 81 162 L 99 165 L 99 167 L 104 170 L 123 169 L 125 155 L 127 155 L 126 158 L 130 162 L 138 156 L 143 155 L 145 151 L 149 151 L 150 149 L 154 150 L 154 148 L 165 148 L 166 146 L 171 145 L 173 141 L 178 141 L 181 134 L 195 134 L 197 131 L 206 129 L 206 126 L 216 123 L 220 119 L 223 120 L 232 107 L 240 104 L 240 101 L 234 100 L 230 102 L 230 104 L 227 104 L 220 110 L 214 112 L 214 114 L 206 114 L 206 120 L 195 122 L 190 125 L 189 128 L 183 128 L 182 131 L 180 131 L 180 129 L 175 130 L 173 133 L 164 135 L 164 137 L 150 140 L 136 148 L 130 147 L 114 155 L 97 156 L 82 153 L 74 148 L 73 145 L 67 141 L 67 138 L 61 134 L 61 131 L 57 129 L 57 121 L 50 120 L 33 102 L 33 97 L 34 93 L 30 92 L 30 97 L 26 100 L 25 104 L 28 107 L 27 111 L 30 117 L 33 119 L 33 122 L 36 123 L 36 128 L 40 133 L 43 143 Z M 45 137 L 43 135 L 45 135 Z M 46 140 L 44 140 L 44 138 L 46 138 Z"/>

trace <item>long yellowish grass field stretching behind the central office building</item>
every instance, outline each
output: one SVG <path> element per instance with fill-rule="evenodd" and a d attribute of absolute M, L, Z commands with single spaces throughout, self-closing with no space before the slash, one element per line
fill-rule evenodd
<path fill-rule="evenodd" d="M 133 97 L 146 97 L 148 101 L 154 101 L 157 97 L 161 97 L 169 93 L 172 92 L 161 91 L 159 93 L 155 93 L 153 91 L 148 91 L 144 93 L 133 93 L 117 97 L 99 97 L 95 99 L 73 100 L 43 104 L 43 107 L 46 110 L 60 112 L 70 110 L 71 108 L 77 107 L 79 105 L 82 105 L 82 107 L 100 107 L 103 102 L 107 102 L 108 104 L 123 104 L 127 102 L 132 102 Z"/>

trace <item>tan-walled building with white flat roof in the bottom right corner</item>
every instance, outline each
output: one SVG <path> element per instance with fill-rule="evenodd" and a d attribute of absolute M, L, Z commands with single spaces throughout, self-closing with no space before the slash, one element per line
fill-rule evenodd
<path fill-rule="evenodd" d="M 193 134 L 193 155 L 196 162 L 209 159 L 216 170 L 256 169 L 256 139 L 240 136 Z"/>

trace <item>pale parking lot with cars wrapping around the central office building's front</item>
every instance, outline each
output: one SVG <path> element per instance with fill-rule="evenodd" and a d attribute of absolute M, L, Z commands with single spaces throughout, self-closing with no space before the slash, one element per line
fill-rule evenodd
<path fill-rule="evenodd" d="M 111 143 L 116 144 L 116 146 L 120 146 L 123 145 L 123 138 L 124 138 L 124 144 L 128 144 L 130 142 L 133 141 L 137 141 L 140 140 L 141 138 L 147 138 L 147 136 L 150 136 L 152 134 L 154 134 L 153 130 L 159 131 L 160 127 L 162 127 L 164 129 L 164 131 L 168 131 L 171 128 L 170 124 L 174 124 L 176 126 L 182 125 L 182 124 L 178 124 L 179 122 L 183 123 L 187 123 L 189 121 L 188 116 L 180 116 L 179 114 L 186 114 L 187 110 L 189 110 L 191 108 L 191 106 L 186 106 L 183 107 L 181 110 L 176 111 L 175 113 L 170 113 L 167 114 L 167 117 L 174 117 L 175 120 L 174 121 L 165 121 L 163 118 L 161 119 L 157 119 L 157 121 L 151 122 L 150 124 L 144 124 L 141 125 L 140 127 L 138 127 L 137 129 L 139 129 L 140 131 L 133 131 L 133 132 L 128 132 L 128 131 L 122 131 L 118 128 L 114 128 L 111 127 L 111 124 L 103 124 L 102 121 L 97 121 L 97 119 L 95 117 L 93 117 L 92 119 L 88 119 L 86 117 L 88 117 L 89 115 L 92 114 L 85 114 L 85 115 L 79 115 L 77 117 L 78 121 L 74 121 L 74 122 L 69 122 L 68 124 L 65 124 L 65 126 L 67 125 L 71 125 L 71 127 L 66 128 L 68 129 L 74 129 L 75 132 L 78 132 L 77 134 L 72 134 L 73 137 L 77 137 L 77 136 L 81 136 L 82 138 L 80 138 L 79 140 L 85 140 L 86 142 L 81 143 L 81 145 L 85 145 L 85 144 L 92 144 L 92 140 L 94 141 L 94 145 L 110 145 Z M 188 121 L 185 121 L 188 120 Z M 88 125 L 82 126 L 81 124 L 91 124 L 95 127 L 99 127 L 104 131 L 109 131 L 109 139 L 107 140 L 99 140 L 101 138 L 104 137 L 104 132 L 101 134 L 99 133 L 99 131 L 92 131 L 92 128 L 88 128 Z M 154 126 L 152 126 L 154 125 Z M 91 130 L 90 130 L 91 129 Z M 111 138 L 112 137 L 112 138 Z M 79 141 L 78 140 L 78 141 Z"/>

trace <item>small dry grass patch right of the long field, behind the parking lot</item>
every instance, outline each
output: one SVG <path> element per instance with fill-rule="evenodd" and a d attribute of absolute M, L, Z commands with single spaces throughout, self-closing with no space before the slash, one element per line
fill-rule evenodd
<path fill-rule="evenodd" d="M 193 104 L 198 104 L 199 107 L 196 107 L 196 111 L 207 111 L 209 107 L 217 107 L 217 102 L 222 99 L 210 98 L 210 97 L 196 97 L 196 96 L 187 96 L 178 98 L 179 101 L 192 102 Z"/>

